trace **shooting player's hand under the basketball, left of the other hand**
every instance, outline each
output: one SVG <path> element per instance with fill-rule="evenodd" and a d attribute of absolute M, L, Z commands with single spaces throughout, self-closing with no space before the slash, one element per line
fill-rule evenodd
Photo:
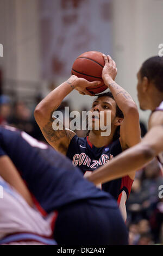
<path fill-rule="evenodd" d="M 101 84 L 101 81 L 93 81 L 89 82 L 84 78 L 77 78 L 76 81 L 74 82 L 73 86 L 74 89 L 78 90 L 78 92 L 82 95 L 90 95 L 90 96 L 95 96 L 95 94 L 90 93 L 86 88 L 89 86 L 97 86 L 98 84 Z"/>

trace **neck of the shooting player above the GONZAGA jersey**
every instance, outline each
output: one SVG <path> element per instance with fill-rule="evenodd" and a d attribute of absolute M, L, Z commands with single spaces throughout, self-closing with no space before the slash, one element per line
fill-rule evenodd
<path fill-rule="evenodd" d="M 113 134 L 111 133 L 110 136 L 101 136 L 101 132 L 98 133 L 97 131 L 90 131 L 89 133 L 89 141 L 96 147 L 102 148 L 105 145 L 108 145 L 112 142 Z"/>

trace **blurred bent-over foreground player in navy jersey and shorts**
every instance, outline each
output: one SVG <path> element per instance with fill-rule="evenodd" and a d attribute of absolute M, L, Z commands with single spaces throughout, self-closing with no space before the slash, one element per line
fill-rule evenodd
<path fill-rule="evenodd" d="M 51 147 L 25 132 L 1 126 L 0 166 L 2 178 L 31 206 L 32 200 L 17 170 L 43 213 L 57 213 L 53 238 L 59 245 L 127 244 L 126 226 L 116 201 L 85 180 L 70 160 Z M 2 210 L 0 204 L 0 212 L 5 215 Z"/>

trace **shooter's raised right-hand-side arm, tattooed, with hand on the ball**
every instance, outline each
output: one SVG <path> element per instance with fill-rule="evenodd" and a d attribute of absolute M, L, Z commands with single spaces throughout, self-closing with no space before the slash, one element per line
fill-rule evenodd
<path fill-rule="evenodd" d="M 114 99 L 121 109 L 124 119 L 120 128 L 120 141 L 122 150 L 133 147 L 141 141 L 141 132 L 139 124 L 139 111 L 136 103 L 126 90 L 119 86 L 112 80 L 112 73 L 117 72 L 116 63 L 111 59 L 104 56 L 105 67 L 103 69 L 103 80 L 109 87 Z M 130 173 L 130 178 L 134 179 L 135 173 Z"/>

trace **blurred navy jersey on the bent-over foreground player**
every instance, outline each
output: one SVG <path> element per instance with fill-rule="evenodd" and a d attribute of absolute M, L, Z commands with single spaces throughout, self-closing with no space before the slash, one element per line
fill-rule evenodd
<path fill-rule="evenodd" d="M 10 157 L 46 213 L 83 199 L 117 208 L 112 196 L 84 179 L 67 157 L 26 132 L 0 126 L 0 157 L 3 155 Z"/>

